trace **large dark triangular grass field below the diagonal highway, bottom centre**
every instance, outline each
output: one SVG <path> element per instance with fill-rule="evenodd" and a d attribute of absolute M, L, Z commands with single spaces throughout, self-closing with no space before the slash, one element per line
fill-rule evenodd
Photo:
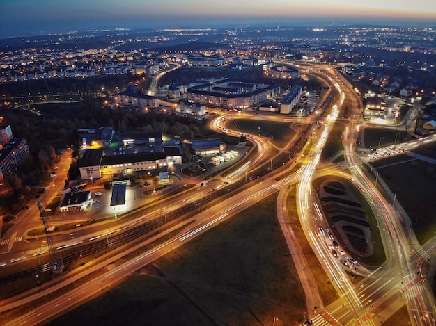
<path fill-rule="evenodd" d="M 297 325 L 306 308 L 277 197 L 138 270 L 49 325 Z"/>

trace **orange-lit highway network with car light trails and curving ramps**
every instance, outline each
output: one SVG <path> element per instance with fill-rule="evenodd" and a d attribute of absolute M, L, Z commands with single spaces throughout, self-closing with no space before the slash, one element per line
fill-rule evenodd
<path fill-rule="evenodd" d="M 307 67 L 307 69 L 312 69 Z M 309 73 L 309 72 L 308 72 Z M 350 85 L 339 75 L 334 72 L 332 68 L 325 68 L 320 65 L 313 65 L 311 74 L 320 75 L 325 81 L 329 81 L 332 88 L 335 88 L 339 97 L 333 103 L 322 102 L 325 106 L 325 113 L 323 115 L 314 115 L 312 117 L 313 124 L 310 124 L 306 131 L 306 135 L 312 135 L 315 132 L 317 137 L 311 137 L 305 149 L 308 150 L 309 157 L 297 156 L 297 161 L 304 163 L 302 168 L 295 171 L 295 160 L 285 162 L 283 167 L 277 167 L 273 161 L 279 160 L 283 157 L 290 156 L 290 148 L 297 144 L 297 138 L 303 139 L 303 135 L 297 135 L 297 138 L 290 140 L 286 147 L 281 149 L 275 148 L 275 155 L 272 150 L 272 145 L 269 138 L 263 138 L 257 135 L 247 135 L 250 141 L 254 142 L 257 148 L 256 155 L 252 156 L 248 161 L 245 161 L 238 170 L 226 175 L 226 178 L 219 179 L 217 177 L 212 182 L 208 183 L 205 187 L 198 186 L 192 191 L 184 192 L 178 197 L 171 197 L 164 202 L 164 209 L 162 204 L 159 207 L 147 207 L 141 211 L 135 212 L 131 215 L 130 220 L 116 222 L 116 225 L 111 224 L 111 234 L 116 230 L 121 231 L 123 228 L 132 227 L 137 223 L 150 222 L 151 220 L 160 220 L 166 222 L 166 218 L 171 213 L 180 210 L 188 205 L 203 205 L 205 202 L 210 202 L 207 209 L 199 211 L 193 215 L 189 220 L 185 220 L 183 225 L 186 225 L 184 231 L 178 234 L 171 234 L 176 227 L 168 230 L 151 239 L 155 240 L 160 238 L 161 245 L 158 245 L 153 250 L 144 252 L 131 261 L 127 261 L 116 270 L 98 273 L 98 270 L 103 265 L 95 266 L 95 270 L 87 270 L 86 272 L 96 272 L 98 276 L 86 284 L 82 284 L 79 288 L 75 288 L 68 293 L 62 295 L 63 300 L 53 300 L 38 307 L 38 310 L 33 306 L 29 311 L 14 320 L 10 320 L 6 325 L 19 325 L 22 323 L 36 324 L 40 323 L 57 313 L 72 307 L 72 305 L 81 302 L 84 298 L 89 297 L 99 291 L 104 291 L 109 288 L 111 284 L 115 284 L 118 280 L 123 279 L 130 275 L 134 270 L 141 266 L 146 266 L 151 261 L 157 259 L 171 250 L 175 250 L 178 246 L 183 245 L 187 241 L 199 236 L 206 230 L 214 227 L 232 215 L 246 209 L 248 206 L 258 202 L 259 200 L 271 195 L 275 192 L 280 192 L 278 202 L 279 221 L 281 225 L 286 225 L 286 215 L 283 211 L 283 202 L 286 200 L 286 189 L 288 186 L 297 186 L 297 210 L 302 227 L 306 233 L 309 243 L 313 247 L 313 251 L 318 256 L 319 261 L 325 268 L 329 278 L 332 280 L 336 291 L 338 292 L 339 299 L 329 304 L 327 307 L 322 305 L 322 298 L 319 293 L 314 291 L 313 275 L 310 272 L 304 259 L 299 258 L 295 261 L 299 277 L 302 280 L 303 287 L 307 292 L 308 289 L 312 291 L 310 294 L 306 293 L 306 303 L 308 316 L 316 320 L 316 325 L 378 325 L 386 320 L 398 310 L 403 304 L 407 305 L 408 311 L 413 325 L 436 325 L 434 308 L 436 306 L 433 294 L 426 290 L 425 280 L 421 275 L 420 266 L 423 262 L 430 258 L 430 252 L 436 248 L 436 243 L 428 245 L 428 247 L 421 248 L 416 245 L 416 241 L 411 241 L 414 238 L 413 229 L 407 216 L 404 216 L 403 211 L 398 209 L 399 204 L 396 204 L 391 198 L 384 198 L 377 187 L 374 186 L 373 179 L 368 179 L 359 156 L 355 154 L 355 143 L 357 139 L 357 128 L 355 117 L 359 117 L 359 108 L 361 104 L 352 93 Z M 345 101 L 345 97 L 352 100 L 352 113 L 349 120 L 338 119 L 338 113 L 341 111 L 341 106 Z M 210 126 L 217 132 L 226 132 L 235 136 L 240 136 L 238 131 L 232 131 L 232 124 L 229 121 L 237 120 L 240 118 L 253 118 L 253 119 L 271 119 L 281 120 L 284 117 L 274 115 L 253 116 L 247 113 L 235 114 L 228 113 L 220 115 L 215 120 L 212 120 Z M 302 118 L 288 118 L 289 122 L 300 123 Z M 306 121 L 306 120 L 305 120 Z M 346 124 L 345 133 L 343 135 L 344 155 L 348 164 L 348 170 L 343 171 L 343 165 L 331 165 L 320 163 L 320 154 L 327 142 L 329 132 L 335 122 Z M 278 153 L 277 153 L 278 151 Z M 68 161 L 65 160 L 65 164 Z M 280 163 L 281 165 L 281 163 Z M 269 168 L 268 168 L 269 167 Z M 63 166 L 60 168 L 63 168 Z M 248 175 L 247 175 L 248 174 Z M 371 205 L 371 209 L 377 217 L 378 228 L 382 236 L 384 251 L 386 252 L 387 261 L 382 266 L 364 266 L 357 264 L 355 266 L 355 273 L 357 275 L 365 276 L 366 278 L 359 284 L 352 284 L 347 272 L 352 272 L 352 266 L 344 266 L 336 257 L 332 256 L 329 248 L 325 243 L 325 238 L 328 234 L 328 229 L 331 227 L 327 224 L 325 218 L 320 211 L 320 202 L 316 193 L 312 190 L 312 181 L 316 177 L 326 174 L 336 174 L 348 178 L 366 198 L 367 202 Z M 248 177 L 248 178 L 247 178 Z M 230 181 L 224 185 L 222 181 Z M 279 180 L 279 181 L 277 181 Z M 233 185 L 240 182 L 242 187 L 240 191 L 232 193 L 231 197 L 224 197 L 222 201 L 213 201 L 219 196 L 224 196 L 226 188 L 233 191 Z M 242 186 L 243 184 L 243 186 Z M 222 185 L 219 192 L 211 194 L 211 188 L 217 188 Z M 62 181 L 54 178 L 53 189 L 59 191 L 61 189 Z M 47 190 L 44 196 L 52 196 L 56 193 Z M 46 197 L 43 197 L 45 201 Z M 213 204 L 212 204 L 213 202 Z M 281 204 L 279 204 L 281 203 Z M 393 205 L 394 204 L 394 205 Z M 397 207 L 398 206 L 398 207 Z M 196 207 L 196 206 L 195 206 Z M 279 208 L 281 208 L 279 210 Z M 22 215 L 18 217 L 17 227 L 24 229 L 27 225 L 20 225 L 20 219 L 24 217 L 34 220 L 34 225 L 39 222 L 39 215 L 36 216 L 35 208 L 27 211 L 22 211 Z M 39 214 L 39 212 L 37 212 Z M 72 238 L 59 238 L 56 242 L 59 246 L 68 245 L 69 243 L 79 243 L 79 241 L 91 241 L 90 239 L 106 238 L 109 245 L 109 223 L 95 225 L 87 229 L 77 229 Z M 290 252 L 298 250 L 293 237 L 293 231 L 289 227 L 282 227 L 283 234 L 288 243 Z M 322 230 L 322 231 L 320 231 Z M 15 239 L 17 231 L 9 235 L 10 239 Z M 151 241 L 150 239 L 150 241 Z M 38 243 L 39 245 L 39 243 Z M 10 253 L 10 259 L 17 259 L 26 255 L 32 254 L 35 250 L 44 250 L 42 247 L 35 249 L 33 243 L 15 243 L 13 240 L 13 252 Z M 12 245 L 10 246 L 12 249 Z M 14 256 L 15 255 L 15 256 Z M 295 255 L 298 256 L 298 255 Z M 15 257 L 15 258 L 14 258 Z M 64 275 L 63 275 L 64 276 Z M 62 277 L 63 277 L 62 276 Z M 59 283 L 59 287 L 65 286 L 73 282 L 73 279 L 68 277 L 63 278 L 63 282 Z M 56 291 L 56 287 L 46 286 L 47 293 Z M 17 307 L 26 302 L 32 302 L 36 298 L 11 298 L 2 302 L 0 312 L 10 309 L 10 307 Z M 20 303 L 21 302 L 21 303 Z M 318 307 L 315 311 L 313 306 Z M 37 313 L 38 311 L 38 313 Z M 357 323 L 357 324 L 356 324 Z"/>

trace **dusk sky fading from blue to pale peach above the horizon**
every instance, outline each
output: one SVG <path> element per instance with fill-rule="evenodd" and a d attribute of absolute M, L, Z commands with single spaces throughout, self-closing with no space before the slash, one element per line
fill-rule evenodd
<path fill-rule="evenodd" d="M 436 4 L 423 0 L 398 1 L 274 0 L 268 3 L 228 0 L 162 0 L 143 3 L 119 1 L 0 1 L 3 17 L 0 35 L 59 33 L 87 29 L 114 28 L 189 28 L 241 26 L 299 26 L 392 24 L 397 26 L 435 26 Z M 416 10 L 416 8 L 423 8 Z"/>

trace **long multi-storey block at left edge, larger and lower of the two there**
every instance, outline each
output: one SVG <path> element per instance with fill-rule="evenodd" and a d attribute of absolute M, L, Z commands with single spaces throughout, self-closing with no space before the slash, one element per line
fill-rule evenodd
<path fill-rule="evenodd" d="M 17 171 L 20 163 L 29 156 L 26 138 L 13 138 L 0 149 L 0 181 Z"/>

